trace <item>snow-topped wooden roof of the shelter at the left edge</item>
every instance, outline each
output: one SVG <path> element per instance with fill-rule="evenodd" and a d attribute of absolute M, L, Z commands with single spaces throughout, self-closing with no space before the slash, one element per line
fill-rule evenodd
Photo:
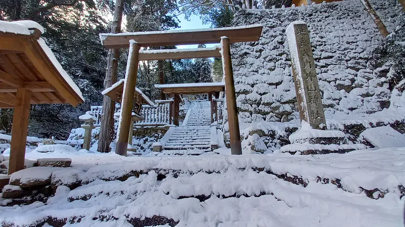
<path fill-rule="evenodd" d="M 32 92 L 31 104 L 84 102 L 82 92 L 39 36 L 32 21 L 0 21 L 0 108 L 14 108 L 18 88 Z"/>

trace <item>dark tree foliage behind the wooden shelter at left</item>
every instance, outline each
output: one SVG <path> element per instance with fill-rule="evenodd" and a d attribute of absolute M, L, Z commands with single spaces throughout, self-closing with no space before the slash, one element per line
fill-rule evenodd
<path fill-rule="evenodd" d="M 80 127 L 77 117 L 90 105 L 100 103 L 106 50 L 98 34 L 107 31 L 108 24 L 101 15 L 109 4 L 93 0 L 0 0 L 1 20 L 32 20 L 45 28 L 42 37 L 86 99 L 77 108 L 68 104 L 31 106 L 28 135 L 66 139 L 70 129 Z M 11 124 L 6 124 L 10 112 L 0 113 L 0 130 L 7 133 L 11 130 Z"/>

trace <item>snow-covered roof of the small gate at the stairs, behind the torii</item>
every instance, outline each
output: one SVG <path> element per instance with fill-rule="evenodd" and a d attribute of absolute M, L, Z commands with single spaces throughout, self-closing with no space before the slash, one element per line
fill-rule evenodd
<path fill-rule="evenodd" d="M 163 93 L 204 94 L 211 91 L 225 91 L 225 83 L 155 84 Z"/>

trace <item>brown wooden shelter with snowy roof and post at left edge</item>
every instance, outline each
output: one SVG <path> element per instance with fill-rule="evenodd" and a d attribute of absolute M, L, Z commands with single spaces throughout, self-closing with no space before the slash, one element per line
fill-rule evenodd
<path fill-rule="evenodd" d="M 84 102 L 33 21 L 0 21 L 0 108 L 14 108 L 9 174 L 24 167 L 30 104 Z"/>

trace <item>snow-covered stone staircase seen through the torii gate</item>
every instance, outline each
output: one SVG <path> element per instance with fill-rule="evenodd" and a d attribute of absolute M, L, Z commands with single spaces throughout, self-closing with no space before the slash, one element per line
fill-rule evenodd
<path fill-rule="evenodd" d="M 183 125 L 174 129 L 163 151 L 165 153 L 176 151 L 176 154 L 201 154 L 211 151 L 210 127 L 210 103 L 207 101 L 194 102 Z M 184 152 L 185 150 L 187 151 Z"/>

